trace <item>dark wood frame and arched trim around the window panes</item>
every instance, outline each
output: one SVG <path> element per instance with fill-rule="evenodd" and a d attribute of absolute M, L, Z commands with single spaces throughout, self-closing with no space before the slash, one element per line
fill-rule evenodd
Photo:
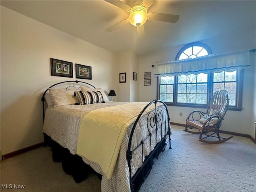
<path fill-rule="evenodd" d="M 187 44 L 186 46 L 182 47 L 178 54 L 176 55 L 176 60 L 179 58 L 180 54 L 183 53 L 184 50 L 187 48 L 190 48 L 192 46 L 201 46 L 208 54 L 212 54 L 212 50 L 209 46 L 207 46 L 204 43 L 201 42 L 194 42 Z M 236 70 L 236 106 L 228 106 L 228 110 L 234 110 L 234 111 L 241 111 L 242 110 L 242 93 L 243 93 L 243 81 L 244 81 L 244 70 Z M 208 101 L 210 98 L 210 95 L 213 94 L 213 85 L 214 85 L 214 78 L 213 78 L 214 72 L 208 73 L 207 78 L 207 101 L 206 104 L 195 104 L 195 103 L 178 103 L 177 97 L 178 97 L 178 76 L 174 75 L 174 90 L 173 90 L 173 102 L 164 102 L 167 106 L 179 106 L 179 107 L 190 107 L 190 108 L 207 108 Z M 160 99 L 160 77 L 157 77 L 157 99 Z"/>

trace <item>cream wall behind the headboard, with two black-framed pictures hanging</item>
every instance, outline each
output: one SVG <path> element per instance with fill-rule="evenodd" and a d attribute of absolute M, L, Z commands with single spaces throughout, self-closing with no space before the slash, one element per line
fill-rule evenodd
<path fill-rule="evenodd" d="M 73 62 L 73 78 L 51 76 L 50 58 Z M 76 80 L 76 63 L 92 66 L 86 82 L 116 89 L 116 54 L 1 6 L 2 154 L 43 142 L 42 93 Z"/>

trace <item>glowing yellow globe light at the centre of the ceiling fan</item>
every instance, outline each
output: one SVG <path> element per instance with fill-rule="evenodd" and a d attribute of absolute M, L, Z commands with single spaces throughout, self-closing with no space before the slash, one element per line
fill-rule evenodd
<path fill-rule="evenodd" d="M 142 26 L 147 21 L 146 10 L 132 11 L 129 16 L 130 23 L 136 27 Z"/>

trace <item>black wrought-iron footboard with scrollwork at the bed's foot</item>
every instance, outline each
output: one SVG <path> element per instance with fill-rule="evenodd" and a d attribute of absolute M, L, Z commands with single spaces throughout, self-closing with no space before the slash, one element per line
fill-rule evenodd
<path fill-rule="evenodd" d="M 161 108 L 156 108 L 156 104 L 160 102 L 164 105 L 165 110 L 163 111 Z M 145 112 L 145 110 L 150 106 L 154 104 L 155 108 L 154 110 L 152 110 L 147 117 L 147 128 L 148 128 L 148 135 L 146 136 L 146 138 L 144 138 L 140 144 L 138 146 L 136 146 L 135 148 L 131 148 L 131 144 L 132 144 L 132 136 L 134 134 L 134 130 L 136 128 L 136 125 L 140 119 L 140 117 L 142 116 L 142 114 Z M 167 118 L 164 119 L 164 112 L 167 113 Z M 152 115 L 153 114 L 153 115 Z M 168 110 L 167 110 L 167 106 L 166 104 L 164 104 L 164 102 L 160 101 L 160 100 L 154 100 L 152 102 L 150 102 L 148 105 L 145 106 L 145 108 L 140 112 L 140 114 L 138 115 L 134 126 L 132 127 L 132 131 L 130 133 L 129 136 L 129 142 L 128 142 L 128 148 L 127 148 L 127 152 L 126 152 L 126 158 L 128 161 L 128 167 L 129 167 L 129 172 L 130 172 L 130 188 L 131 188 L 131 192 L 137 192 L 140 189 L 140 186 L 142 185 L 142 183 L 144 182 L 144 180 L 146 179 L 146 177 L 148 176 L 148 174 L 150 173 L 150 170 L 152 169 L 152 166 L 154 164 L 154 158 L 158 159 L 158 156 L 165 150 L 166 148 L 166 136 L 169 135 L 169 149 L 171 149 L 171 138 L 170 138 L 170 117 L 168 114 Z M 166 123 L 167 122 L 167 123 Z M 168 124 L 168 126 L 166 127 L 166 124 Z M 165 133 L 164 137 L 162 138 L 162 128 L 164 126 L 164 130 Z M 161 129 L 161 140 L 158 141 L 158 129 Z M 145 159 L 143 160 L 143 145 L 144 142 L 146 140 L 150 140 L 150 148 L 151 148 L 151 142 L 152 142 L 152 137 L 153 137 L 153 133 L 155 132 L 154 136 L 156 137 L 156 141 L 157 144 L 154 147 L 153 150 L 151 150 L 150 154 L 148 156 L 145 156 Z M 135 150 L 139 150 L 139 148 L 141 148 L 142 150 L 142 166 L 136 171 L 136 173 L 134 174 L 134 176 L 132 176 L 132 172 L 131 172 L 131 160 L 132 160 L 132 154 Z"/>

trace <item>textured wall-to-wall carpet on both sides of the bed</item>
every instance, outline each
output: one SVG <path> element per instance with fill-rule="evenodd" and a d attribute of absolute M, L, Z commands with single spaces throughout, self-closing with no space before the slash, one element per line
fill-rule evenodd
<path fill-rule="evenodd" d="M 256 192 L 256 145 L 250 139 L 234 136 L 209 145 L 180 126 L 172 126 L 172 132 L 172 150 L 166 148 L 156 160 L 140 192 Z M 61 163 L 52 161 L 48 147 L 3 160 L 0 166 L 1 192 L 100 192 L 96 175 L 77 184 Z M 2 188 L 4 184 L 12 189 Z M 22 185 L 24 189 L 14 189 Z"/>

